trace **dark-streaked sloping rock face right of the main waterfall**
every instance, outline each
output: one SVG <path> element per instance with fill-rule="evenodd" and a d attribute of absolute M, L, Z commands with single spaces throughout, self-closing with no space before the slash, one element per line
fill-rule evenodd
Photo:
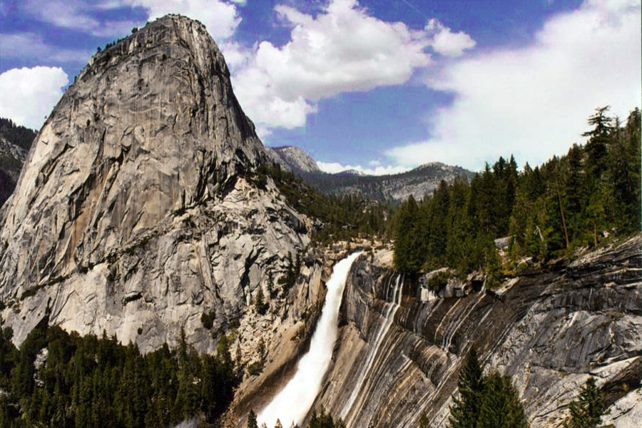
<path fill-rule="evenodd" d="M 315 407 L 348 427 L 417 427 L 422 411 L 445 427 L 458 370 L 471 345 L 511 374 L 531 426 L 555 427 L 589 375 L 611 418 L 640 414 L 641 239 L 497 292 L 418 302 L 418 290 L 361 258 L 345 290 L 334 365 Z"/>

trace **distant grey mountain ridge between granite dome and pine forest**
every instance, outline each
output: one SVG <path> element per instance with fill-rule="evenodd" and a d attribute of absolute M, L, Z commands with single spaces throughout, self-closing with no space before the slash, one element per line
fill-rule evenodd
<path fill-rule="evenodd" d="M 472 171 L 439 162 L 390 175 L 366 175 L 358 170 L 330 174 L 323 172 L 312 156 L 300 147 L 266 147 L 265 151 L 283 170 L 300 175 L 307 184 L 330 195 L 359 193 L 372 200 L 405 200 L 412 195 L 421 199 L 424 195 L 432 195 L 442 180 L 451 182 L 457 177 L 470 180 L 474 176 Z"/>

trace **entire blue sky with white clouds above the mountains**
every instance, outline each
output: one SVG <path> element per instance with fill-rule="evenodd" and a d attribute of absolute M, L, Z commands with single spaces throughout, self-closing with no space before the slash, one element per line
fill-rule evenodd
<path fill-rule="evenodd" d="M 97 46 L 203 22 L 264 143 L 328 171 L 541 163 L 642 99 L 640 0 L 2 0 L 0 116 L 39 128 Z"/>

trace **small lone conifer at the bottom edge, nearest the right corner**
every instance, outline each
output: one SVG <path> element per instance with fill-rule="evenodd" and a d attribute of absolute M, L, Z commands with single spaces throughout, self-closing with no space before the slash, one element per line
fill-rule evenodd
<path fill-rule="evenodd" d="M 595 378 L 586 379 L 578 399 L 569 404 L 569 419 L 564 428 L 598 428 L 601 419 L 608 414 L 603 393 L 596 386 Z"/>

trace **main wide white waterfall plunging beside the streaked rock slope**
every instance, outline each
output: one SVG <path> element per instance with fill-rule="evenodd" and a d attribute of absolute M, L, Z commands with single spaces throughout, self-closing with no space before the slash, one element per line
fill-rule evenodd
<path fill-rule="evenodd" d="M 259 426 L 265 423 L 267 427 L 274 427 L 277 419 L 280 419 L 284 427 L 290 427 L 292 422 L 301 424 L 310 410 L 332 360 L 345 281 L 352 263 L 360 254 L 359 252 L 349 255 L 333 268 L 330 280 L 326 284 L 327 295 L 321 317 L 310 341 L 310 350 L 299 360 L 297 371 L 290 382 L 287 382 L 272 402 L 259 412 Z"/>

